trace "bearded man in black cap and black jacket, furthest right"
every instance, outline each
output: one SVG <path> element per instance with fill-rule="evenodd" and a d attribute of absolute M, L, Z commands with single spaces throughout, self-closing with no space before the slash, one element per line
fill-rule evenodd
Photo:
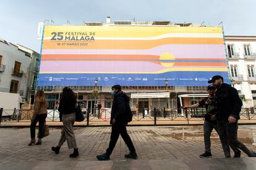
<path fill-rule="evenodd" d="M 255 157 L 256 153 L 249 150 L 244 144 L 242 144 L 242 142 L 237 140 L 237 121 L 240 119 L 239 113 L 242 107 L 242 101 L 239 98 L 237 90 L 229 84 L 223 83 L 223 77 L 218 75 L 213 76 L 208 83 L 212 83 L 217 87 L 217 91 L 215 93 L 217 102 L 216 118 L 220 139 L 228 139 L 230 147 L 233 150 L 237 150 L 234 157 L 241 156 L 241 152 L 238 149 L 241 149 L 250 157 Z M 224 149 L 225 148 L 223 148 L 223 150 Z M 229 148 L 226 149 L 229 151 Z M 229 156 L 226 157 L 230 158 L 230 151 Z"/>

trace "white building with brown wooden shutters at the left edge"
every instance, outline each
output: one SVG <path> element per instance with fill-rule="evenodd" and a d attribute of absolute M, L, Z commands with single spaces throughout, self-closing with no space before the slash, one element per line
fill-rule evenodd
<path fill-rule="evenodd" d="M 0 39 L 0 91 L 19 93 L 25 99 L 31 61 L 28 52 Z"/>

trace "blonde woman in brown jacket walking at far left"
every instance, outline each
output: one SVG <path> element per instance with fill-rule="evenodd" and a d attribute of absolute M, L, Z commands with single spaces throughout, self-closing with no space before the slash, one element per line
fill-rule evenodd
<path fill-rule="evenodd" d="M 45 136 L 45 119 L 47 117 L 47 101 L 45 99 L 45 93 L 43 91 L 36 92 L 35 96 L 35 105 L 34 105 L 34 113 L 31 118 L 30 124 L 30 136 L 31 141 L 28 144 L 33 145 L 35 144 L 35 127 L 36 123 L 39 122 L 39 132 L 38 132 L 38 140 L 35 145 L 41 145 L 42 138 Z"/>

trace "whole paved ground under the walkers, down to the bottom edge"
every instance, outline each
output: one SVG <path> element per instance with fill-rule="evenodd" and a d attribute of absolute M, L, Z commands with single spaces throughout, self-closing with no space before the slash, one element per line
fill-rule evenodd
<path fill-rule="evenodd" d="M 36 130 L 37 131 L 37 130 Z M 110 161 L 97 161 L 109 144 L 111 127 L 74 127 L 79 158 L 69 158 L 67 144 L 59 155 L 51 152 L 58 144 L 61 128 L 51 127 L 42 145 L 28 146 L 27 127 L 0 128 L 0 169 L 256 169 L 256 158 L 224 158 L 218 134 L 211 136 L 213 158 L 198 158 L 204 152 L 202 126 L 129 126 L 127 131 L 139 155 L 127 160 L 129 152 L 119 137 Z M 256 125 L 241 125 L 238 137 L 256 150 Z M 233 155 L 233 153 L 231 153 Z"/>

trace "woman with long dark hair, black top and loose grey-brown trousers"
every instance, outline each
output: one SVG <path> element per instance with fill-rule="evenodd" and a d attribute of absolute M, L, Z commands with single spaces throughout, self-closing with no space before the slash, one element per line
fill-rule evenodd
<path fill-rule="evenodd" d="M 73 131 L 73 125 L 75 123 L 75 104 L 77 100 L 75 99 L 75 94 L 69 87 L 64 87 L 62 91 L 62 97 L 59 102 L 59 118 L 63 123 L 63 129 L 61 131 L 61 138 L 59 139 L 59 144 L 56 147 L 52 147 L 51 150 L 56 154 L 59 153 L 61 145 L 67 140 L 67 146 L 69 149 L 74 148 L 74 153 L 70 154 L 70 158 L 75 158 L 79 156 L 79 151 L 77 148 L 77 142 L 75 140 L 75 134 Z"/>

